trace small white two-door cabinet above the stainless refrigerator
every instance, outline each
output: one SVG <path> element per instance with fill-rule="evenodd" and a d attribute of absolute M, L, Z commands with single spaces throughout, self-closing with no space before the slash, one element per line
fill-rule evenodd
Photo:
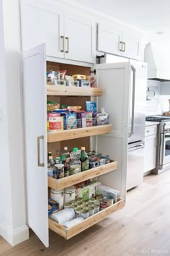
<path fill-rule="evenodd" d="M 101 23 L 97 32 L 97 51 L 130 59 L 140 59 L 140 33 L 119 24 Z"/>

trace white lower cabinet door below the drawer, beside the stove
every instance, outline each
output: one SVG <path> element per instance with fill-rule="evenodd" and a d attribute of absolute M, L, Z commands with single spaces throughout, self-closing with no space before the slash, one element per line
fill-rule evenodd
<path fill-rule="evenodd" d="M 144 173 L 156 168 L 156 138 L 148 136 L 145 139 Z"/>

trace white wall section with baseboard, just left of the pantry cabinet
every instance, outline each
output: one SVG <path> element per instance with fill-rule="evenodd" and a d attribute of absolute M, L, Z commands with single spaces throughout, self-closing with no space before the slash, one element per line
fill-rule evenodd
<path fill-rule="evenodd" d="M 21 41 L 19 0 L 3 0 L 3 14 L 7 95 L 5 111 L 7 111 L 6 125 L 8 124 L 9 137 L 9 151 L 6 152 L 6 156 L 8 156 L 9 159 L 6 161 L 6 166 L 9 164 L 8 167 L 10 168 L 11 179 L 10 182 L 8 180 L 5 190 L 9 189 L 9 192 L 11 193 L 9 202 L 12 202 L 12 226 L 10 227 L 12 232 L 12 241 L 9 242 L 12 244 L 17 244 L 28 238 L 25 213 L 24 163 L 22 145 L 22 82 L 20 71 Z M 5 194 L 4 197 L 6 197 Z"/>

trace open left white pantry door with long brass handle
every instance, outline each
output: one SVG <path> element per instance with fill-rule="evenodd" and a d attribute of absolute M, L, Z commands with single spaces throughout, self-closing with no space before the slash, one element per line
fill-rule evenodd
<path fill-rule="evenodd" d="M 27 221 L 46 247 L 48 242 L 48 172 L 45 45 L 23 53 L 24 145 Z"/>

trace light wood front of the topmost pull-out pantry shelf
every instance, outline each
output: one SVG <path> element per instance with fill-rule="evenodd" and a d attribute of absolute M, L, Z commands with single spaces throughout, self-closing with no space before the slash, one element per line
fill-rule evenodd
<path fill-rule="evenodd" d="M 75 86 L 47 85 L 47 95 L 58 96 L 102 96 L 101 88 L 82 88 Z"/>

